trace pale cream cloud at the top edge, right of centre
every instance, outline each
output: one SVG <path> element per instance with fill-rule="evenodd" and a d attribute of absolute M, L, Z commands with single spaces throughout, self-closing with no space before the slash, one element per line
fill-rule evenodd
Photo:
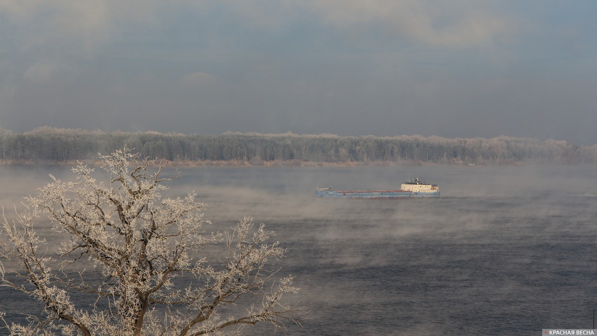
<path fill-rule="evenodd" d="M 475 1 L 316 0 L 325 22 L 342 30 L 380 27 L 383 33 L 431 45 L 491 45 L 512 33 L 513 20 Z"/>

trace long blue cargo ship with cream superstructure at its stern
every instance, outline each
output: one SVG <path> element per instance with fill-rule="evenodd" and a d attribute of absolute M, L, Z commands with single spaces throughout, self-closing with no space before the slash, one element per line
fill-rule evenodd
<path fill-rule="evenodd" d="M 350 190 L 336 191 L 330 188 L 316 188 L 315 193 L 318 197 L 331 198 L 405 198 L 405 197 L 439 197 L 439 187 L 436 184 L 430 184 L 419 181 L 418 178 L 406 181 L 400 186 L 400 190 Z"/>

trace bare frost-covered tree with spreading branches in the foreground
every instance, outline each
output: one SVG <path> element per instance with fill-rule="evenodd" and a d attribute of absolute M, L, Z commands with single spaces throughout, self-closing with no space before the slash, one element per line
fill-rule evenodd
<path fill-rule="evenodd" d="M 4 332 L 239 334 L 257 322 L 281 331 L 285 321 L 299 323 L 304 308 L 282 298 L 298 291 L 293 277 L 275 278 L 273 261 L 287 251 L 268 242 L 272 231 L 246 217 L 232 231 L 207 233 L 195 193 L 161 196 L 179 175 L 162 178 L 161 164 L 127 148 L 101 160 L 106 182 L 79 164 L 73 182 L 50 175 L 14 221 L 4 216 L 2 286 L 45 307 L 26 325 L 5 321 Z M 55 252 L 33 228 L 45 216 L 64 237 Z"/>

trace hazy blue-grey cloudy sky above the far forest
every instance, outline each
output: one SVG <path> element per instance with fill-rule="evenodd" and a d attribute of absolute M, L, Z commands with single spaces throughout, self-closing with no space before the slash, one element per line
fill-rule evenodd
<path fill-rule="evenodd" d="M 0 128 L 597 143 L 597 1 L 0 0 Z"/>

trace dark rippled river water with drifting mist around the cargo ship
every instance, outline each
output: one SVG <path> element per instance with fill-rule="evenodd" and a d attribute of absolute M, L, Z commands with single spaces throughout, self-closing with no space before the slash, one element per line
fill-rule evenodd
<path fill-rule="evenodd" d="M 290 250 L 276 265 L 281 276 L 296 276 L 297 297 L 311 313 L 303 328 L 288 325 L 289 334 L 533 335 L 592 327 L 594 166 L 180 170 L 164 195 L 195 190 L 213 222 L 206 230 L 228 230 L 253 216 Z M 48 173 L 0 167 L 7 213 L 50 182 Z M 74 177 L 67 169 L 51 173 Z M 414 176 L 439 184 L 441 197 L 315 198 L 316 187 L 393 189 Z M 2 310 L 20 308 L 17 296 L 2 289 Z M 272 334 L 273 328 L 244 331 Z"/>

